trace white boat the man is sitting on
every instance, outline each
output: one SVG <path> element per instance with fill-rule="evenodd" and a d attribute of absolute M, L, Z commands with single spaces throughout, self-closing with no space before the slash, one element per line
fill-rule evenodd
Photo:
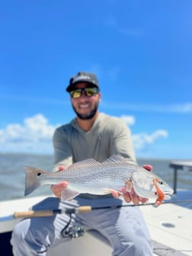
<path fill-rule="evenodd" d="M 146 205 L 136 207 L 140 208 L 146 219 L 154 256 L 192 256 L 192 190 L 177 189 L 178 171 L 192 171 L 192 161 L 174 161 L 170 163 L 170 167 L 174 168 L 174 194 L 171 200 L 162 203 L 158 208 L 152 207 L 150 201 Z M 30 206 L 46 197 L 0 202 L 0 248 L 4 256 L 13 255 L 10 244 L 11 232 L 20 220 L 14 218 L 13 213 L 27 211 Z M 112 249 L 104 237 L 90 231 L 81 237 L 72 238 L 69 242 L 50 248 L 48 256 L 61 256 L 63 251 L 70 256 L 107 256 L 111 255 Z"/>

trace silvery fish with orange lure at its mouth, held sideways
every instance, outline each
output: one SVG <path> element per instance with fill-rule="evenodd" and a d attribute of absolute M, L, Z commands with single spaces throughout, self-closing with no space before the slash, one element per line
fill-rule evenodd
<path fill-rule="evenodd" d="M 62 171 L 47 172 L 25 166 L 24 195 L 31 194 L 41 185 L 59 184 L 67 181 L 68 185 L 62 190 L 61 200 L 72 200 L 79 194 L 105 195 L 114 190 L 121 194 L 122 187 L 130 192 L 130 181 L 139 197 L 156 200 L 156 206 L 165 199 L 170 199 L 173 189 L 152 171 L 142 166 L 132 164 L 128 158 L 111 155 L 104 162 L 93 158 L 75 162 Z"/>

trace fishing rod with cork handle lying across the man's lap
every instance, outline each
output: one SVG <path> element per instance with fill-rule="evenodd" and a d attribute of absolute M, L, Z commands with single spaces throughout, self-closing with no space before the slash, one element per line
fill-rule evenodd
<path fill-rule="evenodd" d="M 190 200 L 177 200 L 177 201 L 166 201 L 163 204 L 168 203 L 192 203 L 192 199 Z M 90 213 L 92 210 L 104 210 L 104 209 L 117 209 L 121 207 L 134 207 L 134 206 L 154 206 L 154 203 L 141 203 L 141 204 L 126 204 L 126 205 L 115 205 L 115 206 L 78 206 L 72 209 L 55 209 L 55 210 L 28 210 L 25 212 L 15 212 L 11 216 L 0 217 L 1 221 L 6 221 L 10 219 L 21 219 L 21 218 L 34 218 L 34 217 L 46 217 L 46 216 L 54 216 L 56 214 L 72 214 L 72 213 Z"/>

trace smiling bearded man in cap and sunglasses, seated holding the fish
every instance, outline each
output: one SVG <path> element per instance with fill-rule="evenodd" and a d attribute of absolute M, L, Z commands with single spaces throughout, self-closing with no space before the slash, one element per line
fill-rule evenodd
<path fill-rule="evenodd" d="M 56 129 L 53 136 L 54 171 L 66 168 L 74 162 L 94 158 L 104 162 L 110 155 L 122 155 L 136 163 L 130 130 L 123 120 L 98 112 L 101 91 L 94 74 L 78 72 L 69 81 L 69 92 L 76 118 Z M 151 170 L 150 166 L 146 166 Z M 118 174 L 117 174 L 118 175 Z M 52 185 L 56 197 L 67 182 Z M 34 210 L 50 208 L 72 208 L 75 206 L 113 206 L 133 201 L 145 202 L 132 190 L 122 188 L 124 200 L 114 191 L 113 196 L 80 194 L 75 200 L 60 202 L 53 197 L 34 207 Z M 114 198 L 116 197 L 116 198 Z M 70 219 L 71 218 L 71 219 Z M 85 230 L 96 229 L 110 242 L 114 256 L 151 256 L 152 245 L 142 214 L 137 207 L 121 207 L 113 210 L 101 209 L 74 216 L 57 215 L 46 218 L 25 219 L 14 229 L 11 238 L 14 256 L 46 255 L 50 246 L 66 242 L 69 227 L 81 222 Z M 64 234 L 64 235 L 63 235 Z M 65 251 L 64 251 L 65 254 Z"/>

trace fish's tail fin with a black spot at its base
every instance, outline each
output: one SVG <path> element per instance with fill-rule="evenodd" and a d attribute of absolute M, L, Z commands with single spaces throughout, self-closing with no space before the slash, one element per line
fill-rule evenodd
<path fill-rule="evenodd" d="M 40 187 L 40 176 L 44 174 L 46 171 L 42 171 L 38 168 L 25 166 L 25 190 L 24 195 L 32 193 L 38 187 Z"/>

